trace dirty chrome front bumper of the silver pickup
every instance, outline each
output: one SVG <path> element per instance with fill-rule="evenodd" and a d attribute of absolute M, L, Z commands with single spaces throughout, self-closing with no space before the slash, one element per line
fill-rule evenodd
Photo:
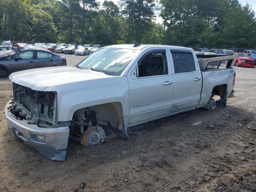
<path fill-rule="evenodd" d="M 68 146 L 69 127 L 40 128 L 29 120 L 19 120 L 11 112 L 10 100 L 5 106 L 6 122 L 10 132 L 51 160 L 64 161 Z M 44 138 L 44 139 L 38 139 Z"/>

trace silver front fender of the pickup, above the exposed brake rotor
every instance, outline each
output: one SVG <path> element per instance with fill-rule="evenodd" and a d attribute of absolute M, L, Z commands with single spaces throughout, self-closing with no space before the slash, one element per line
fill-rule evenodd
<path fill-rule="evenodd" d="M 129 88 L 126 82 L 94 86 L 57 92 L 58 95 L 58 121 L 72 120 L 76 110 L 89 106 L 120 102 L 122 104 L 124 119 L 129 116 Z"/>

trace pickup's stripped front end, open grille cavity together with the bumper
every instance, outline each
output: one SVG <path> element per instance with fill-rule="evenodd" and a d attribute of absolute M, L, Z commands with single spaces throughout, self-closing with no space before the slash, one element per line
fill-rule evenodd
<path fill-rule="evenodd" d="M 65 160 L 69 124 L 57 121 L 57 93 L 13 83 L 13 100 L 5 108 L 8 127 L 52 160 Z"/>

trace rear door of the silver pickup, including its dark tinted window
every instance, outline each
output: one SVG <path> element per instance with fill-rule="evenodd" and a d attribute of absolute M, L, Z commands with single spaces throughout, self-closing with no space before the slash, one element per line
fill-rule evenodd
<path fill-rule="evenodd" d="M 190 50 L 170 50 L 174 78 L 174 112 L 196 108 L 200 101 L 202 75 Z"/>

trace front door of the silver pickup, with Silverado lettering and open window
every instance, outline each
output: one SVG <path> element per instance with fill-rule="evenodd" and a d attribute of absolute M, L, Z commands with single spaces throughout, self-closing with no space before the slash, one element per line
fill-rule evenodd
<path fill-rule="evenodd" d="M 130 97 L 129 124 L 146 122 L 170 114 L 173 77 L 168 72 L 166 49 L 145 53 L 128 78 Z M 170 66 L 170 62 L 169 62 Z"/>

